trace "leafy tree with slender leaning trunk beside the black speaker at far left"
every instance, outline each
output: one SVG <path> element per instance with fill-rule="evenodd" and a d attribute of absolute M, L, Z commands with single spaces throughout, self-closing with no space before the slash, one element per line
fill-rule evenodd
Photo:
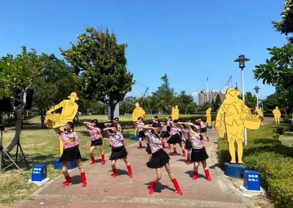
<path fill-rule="evenodd" d="M 11 100 L 15 99 L 21 103 L 19 106 L 11 103 L 16 116 L 16 125 L 13 140 L 6 148 L 7 152 L 13 149 L 20 137 L 27 90 L 38 81 L 44 70 L 44 63 L 43 55 L 39 56 L 35 49 L 27 52 L 25 46 L 22 47 L 22 53 L 16 55 L 15 58 L 8 54 L 0 59 L 0 96 L 9 97 Z M 17 88 L 20 90 L 18 98 L 15 96 Z"/>

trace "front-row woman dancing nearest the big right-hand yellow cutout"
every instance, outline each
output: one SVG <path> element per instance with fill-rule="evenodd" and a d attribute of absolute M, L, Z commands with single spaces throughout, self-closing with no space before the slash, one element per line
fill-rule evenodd
<path fill-rule="evenodd" d="M 196 180 L 198 178 L 198 166 L 199 162 L 201 162 L 202 167 L 204 168 L 205 176 L 208 181 L 212 181 L 210 173 L 208 171 L 206 159 L 208 159 L 208 154 L 203 148 L 203 142 L 200 137 L 200 123 L 187 123 L 188 131 L 189 131 L 189 141 L 192 145 L 191 151 L 191 161 L 194 162 L 194 175 L 192 180 Z"/>

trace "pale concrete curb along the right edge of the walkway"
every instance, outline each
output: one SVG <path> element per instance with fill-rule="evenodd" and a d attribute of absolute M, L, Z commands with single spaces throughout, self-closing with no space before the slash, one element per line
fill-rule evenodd
<path fill-rule="evenodd" d="M 218 164 L 216 148 L 217 148 L 217 145 L 215 143 L 212 149 L 212 161 L 214 164 Z M 255 206 L 254 203 L 252 203 L 249 199 L 247 199 L 235 186 L 233 186 L 233 184 L 226 178 L 221 168 L 219 168 L 218 166 L 215 166 L 215 170 L 217 175 L 224 182 L 224 184 L 231 190 L 231 192 L 233 192 L 233 194 L 235 194 L 239 199 L 241 199 L 246 206 L 251 208 L 257 208 L 257 206 Z"/>

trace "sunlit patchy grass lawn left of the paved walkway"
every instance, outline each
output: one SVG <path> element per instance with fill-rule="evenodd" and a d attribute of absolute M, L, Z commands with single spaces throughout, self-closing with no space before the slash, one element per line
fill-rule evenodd
<path fill-rule="evenodd" d="M 96 116 L 92 116 L 96 117 Z M 84 120 L 91 120 L 87 117 Z M 80 139 L 81 149 L 83 152 L 84 164 L 89 163 L 89 148 L 90 138 L 87 129 L 83 125 L 74 127 L 74 131 L 78 134 Z M 133 129 L 122 130 L 127 145 L 133 144 L 130 140 L 133 135 Z M 3 135 L 3 146 L 6 147 L 14 136 L 14 130 L 7 131 Z M 53 170 L 54 159 L 59 156 L 59 140 L 58 135 L 54 130 L 48 128 L 36 128 L 23 130 L 21 136 L 21 145 L 27 155 L 27 160 L 30 167 L 35 164 L 42 163 L 48 166 L 48 177 L 52 180 L 62 174 L 61 170 Z M 105 139 L 105 154 L 110 152 L 109 142 Z M 15 154 L 15 149 L 10 152 L 12 156 Z M 95 151 L 96 158 L 100 157 L 100 151 Z M 108 158 L 106 157 L 106 160 Z M 109 161 L 106 165 L 110 165 Z M 8 170 L 0 174 L 0 207 L 9 206 L 17 201 L 27 199 L 39 187 L 36 185 L 29 185 L 27 181 L 31 178 L 31 170 L 25 168 L 25 164 L 21 163 L 20 167 L 24 171 L 24 176 L 20 174 L 16 168 Z M 85 170 L 86 171 L 86 170 Z"/>

